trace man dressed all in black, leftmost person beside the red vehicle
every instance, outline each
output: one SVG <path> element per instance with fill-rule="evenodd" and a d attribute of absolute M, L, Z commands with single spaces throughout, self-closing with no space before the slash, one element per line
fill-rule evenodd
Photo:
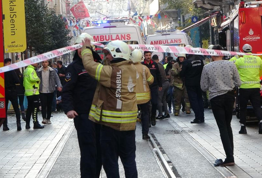
<path fill-rule="evenodd" d="M 11 59 L 6 58 L 4 59 L 4 66 L 8 66 L 11 64 Z M 18 107 L 18 99 L 16 95 L 16 86 L 15 84 L 19 84 L 19 79 L 14 70 L 7 71 L 4 73 L 4 91 L 5 91 L 5 111 L 6 111 L 6 119 L 3 123 L 3 131 L 8 131 L 9 128 L 7 126 L 7 107 L 8 101 L 10 100 L 12 106 L 15 110 L 15 117 L 16 117 L 16 125 L 17 130 L 21 131 L 21 123 L 20 123 L 20 111 Z"/>

